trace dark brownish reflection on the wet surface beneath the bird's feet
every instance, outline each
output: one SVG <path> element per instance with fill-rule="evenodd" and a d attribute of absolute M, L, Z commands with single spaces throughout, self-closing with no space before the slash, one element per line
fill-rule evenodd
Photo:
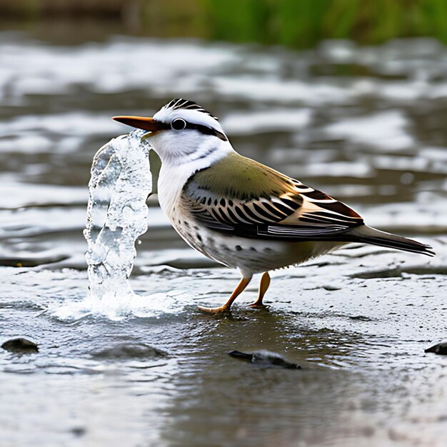
<path fill-rule="evenodd" d="M 338 426 L 333 406 L 341 410 L 339 401 L 348 403 L 348 377 L 306 361 L 306 351 L 288 340 L 291 318 L 266 312 L 224 319 L 194 338 L 196 349 L 174 379 L 181 392 L 169 406 L 174 423 L 164 435 L 172 445 L 182 440 L 186 445 L 220 445 L 224 439 L 227 445 L 268 446 L 274 441 L 286 446 L 309 436 L 318 445 L 333 437 L 330 432 Z M 229 357 L 233 348 L 273 348 L 303 364 L 303 370 L 256 368 Z M 320 437 L 316 429 L 321 424 L 328 433 Z"/>

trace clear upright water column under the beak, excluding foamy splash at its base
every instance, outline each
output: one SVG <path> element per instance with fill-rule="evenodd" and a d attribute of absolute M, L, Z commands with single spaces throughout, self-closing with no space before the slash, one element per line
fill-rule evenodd
<path fill-rule="evenodd" d="M 152 191 L 149 146 L 134 131 L 112 139 L 94 156 L 84 236 L 89 249 L 89 288 L 93 298 L 132 293 L 129 276 L 135 241 L 147 230 L 146 199 Z"/>

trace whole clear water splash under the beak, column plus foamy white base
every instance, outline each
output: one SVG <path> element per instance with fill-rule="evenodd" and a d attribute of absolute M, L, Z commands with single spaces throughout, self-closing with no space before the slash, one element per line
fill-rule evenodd
<path fill-rule="evenodd" d="M 91 165 L 89 204 L 84 236 L 89 293 L 82 301 L 55 309 L 61 319 L 101 315 L 112 320 L 151 317 L 184 308 L 181 291 L 154 291 L 140 296 L 129 276 L 136 257 L 135 243 L 147 231 L 146 199 L 152 191 L 149 143 L 144 131 L 133 131 L 109 141 Z"/>

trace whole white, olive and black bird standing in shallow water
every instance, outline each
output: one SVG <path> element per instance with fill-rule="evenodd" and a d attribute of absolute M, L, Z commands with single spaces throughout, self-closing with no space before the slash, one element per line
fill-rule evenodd
<path fill-rule="evenodd" d="M 434 256 L 431 246 L 367 226 L 341 201 L 238 154 L 219 119 L 186 99 L 173 99 L 153 117 L 114 116 L 147 131 L 161 159 L 158 195 L 179 235 L 196 251 L 230 268 L 241 280 L 223 306 L 199 310 L 225 314 L 256 273 L 262 273 L 262 308 L 269 271 L 295 266 L 345 246 L 369 243 Z"/>

